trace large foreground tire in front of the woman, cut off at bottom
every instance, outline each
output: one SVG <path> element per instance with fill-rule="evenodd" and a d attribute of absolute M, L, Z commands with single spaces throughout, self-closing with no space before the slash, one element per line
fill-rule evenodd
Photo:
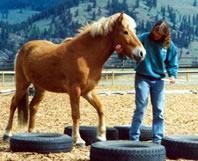
<path fill-rule="evenodd" d="M 106 141 L 91 145 L 90 161 L 165 161 L 165 147 L 139 141 Z"/>

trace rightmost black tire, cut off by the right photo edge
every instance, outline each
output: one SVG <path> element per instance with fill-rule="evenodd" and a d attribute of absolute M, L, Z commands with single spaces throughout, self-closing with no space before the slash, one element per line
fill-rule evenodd
<path fill-rule="evenodd" d="M 170 159 L 198 160 L 198 136 L 170 135 L 162 139 L 167 157 Z"/>

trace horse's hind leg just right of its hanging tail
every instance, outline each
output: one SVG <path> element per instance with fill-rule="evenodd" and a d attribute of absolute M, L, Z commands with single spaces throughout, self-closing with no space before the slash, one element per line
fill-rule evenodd
<path fill-rule="evenodd" d="M 28 127 L 29 132 L 33 132 L 35 128 L 36 113 L 38 111 L 40 102 L 44 98 L 44 93 L 45 93 L 44 90 L 35 87 L 35 95 L 32 101 L 30 102 L 30 120 L 29 120 L 29 127 Z"/>

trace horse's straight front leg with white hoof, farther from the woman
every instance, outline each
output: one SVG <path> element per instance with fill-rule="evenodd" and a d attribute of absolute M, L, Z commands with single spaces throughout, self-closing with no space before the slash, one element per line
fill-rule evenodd
<path fill-rule="evenodd" d="M 72 137 L 75 145 L 84 147 L 85 141 L 80 136 L 80 93 L 80 87 L 73 87 L 69 92 L 73 119 Z"/>

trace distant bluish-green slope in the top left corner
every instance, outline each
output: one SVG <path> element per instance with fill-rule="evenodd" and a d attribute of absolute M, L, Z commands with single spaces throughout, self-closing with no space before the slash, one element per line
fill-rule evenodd
<path fill-rule="evenodd" d="M 19 24 L 34 14 L 55 7 L 62 0 L 1 0 L 0 20 L 9 24 Z"/>

